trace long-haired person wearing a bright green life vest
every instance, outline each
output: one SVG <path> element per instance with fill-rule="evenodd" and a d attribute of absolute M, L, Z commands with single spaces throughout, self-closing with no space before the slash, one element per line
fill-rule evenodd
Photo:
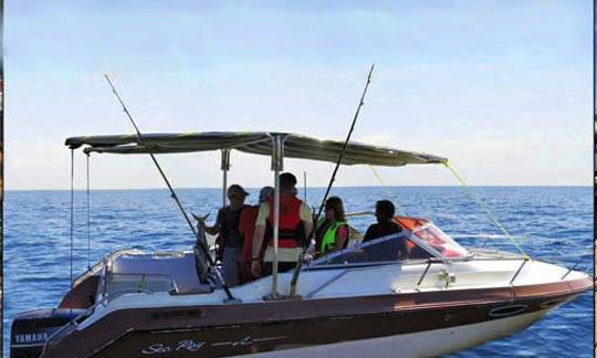
<path fill-rule="evenodd" d="M 320 256 L 346 249 L 348 223 L 344 217 L 344 204 L 338 197 L 325 201 L 325 218 L 317 221 L 315 245 Z"/>

